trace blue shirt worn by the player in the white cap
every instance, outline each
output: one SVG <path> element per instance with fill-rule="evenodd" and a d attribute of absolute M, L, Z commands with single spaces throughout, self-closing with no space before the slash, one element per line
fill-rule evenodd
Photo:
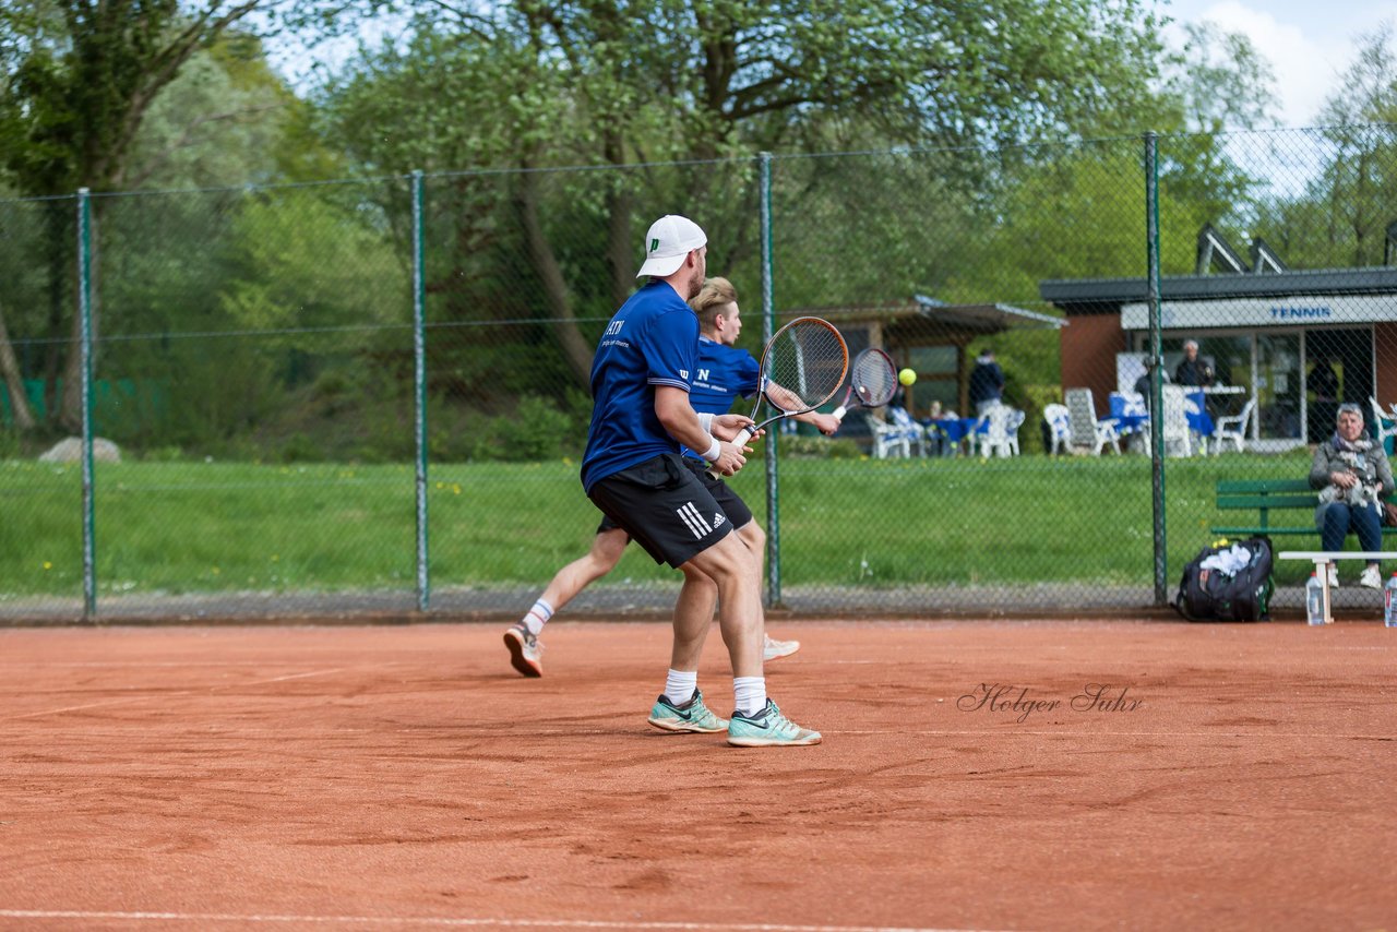
<path fill-rule="evenodd" d="M 651 282 L 620 306 L 592 358 L 592 423 L 583 453 L 583 488 L 679 442 L 655 416 L 655 386 L 690 390 L 698 358 L 698 317 L 668 282 Z"/>

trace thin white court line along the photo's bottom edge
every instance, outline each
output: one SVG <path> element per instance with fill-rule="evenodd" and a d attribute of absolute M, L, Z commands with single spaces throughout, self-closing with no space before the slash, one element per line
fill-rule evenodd
<path fill-rule="evenodd" d="M 0 919 L 127 919 L 131 922 L 302 922 L 320 925 L 440 925 L 511 929 L 718 929 L 726 932 L 970 932 L 902 925 L 788 925 L 774 922 L 609 922 L 605 919 L 461 919 L 384 915 L 237 915 L 229 912 L 85 912 L 80 910 L 0 910 Z"/>

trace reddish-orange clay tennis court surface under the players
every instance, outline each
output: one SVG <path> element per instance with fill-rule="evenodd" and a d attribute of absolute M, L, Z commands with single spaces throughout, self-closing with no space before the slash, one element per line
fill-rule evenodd
<path fill-rule="evenodd" d="M 664 623 L 500 632 L 0 629 L 0 926 L 1397 926 L 1379 622 L 773 625 L 761 750 L 647 727 Z"/>

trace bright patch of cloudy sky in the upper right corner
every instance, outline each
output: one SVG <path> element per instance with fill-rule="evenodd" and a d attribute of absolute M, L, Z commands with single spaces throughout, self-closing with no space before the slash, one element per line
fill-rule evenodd
<path fill-rule="evenodd" d="M 1160 8 L 1178 22 L 1211 21 L 1246 35 L 1275 73 L 1275 116 L 1291 127 L 1317 123 L 1361 35 L 1397 24 L 1397 0 L 1160 0 Z"/>

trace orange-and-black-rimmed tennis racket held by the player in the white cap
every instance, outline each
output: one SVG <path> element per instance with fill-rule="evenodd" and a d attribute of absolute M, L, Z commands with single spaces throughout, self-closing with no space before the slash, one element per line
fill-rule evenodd
<path fill-rule="evenodd" d="M 777 414 L 745 428 L 733 440 L 743 446 L 773 421 L 814 411 L 834 397 L 849 372 L 849 348 L 844 337 L 828 320 L 796 317 L 771 335 L 761 351 L 761 391 L 752 405 L 752 419 L 757 419 L 766 400 Z M 718 478 L 710 468 L 708 475 Z"/>

